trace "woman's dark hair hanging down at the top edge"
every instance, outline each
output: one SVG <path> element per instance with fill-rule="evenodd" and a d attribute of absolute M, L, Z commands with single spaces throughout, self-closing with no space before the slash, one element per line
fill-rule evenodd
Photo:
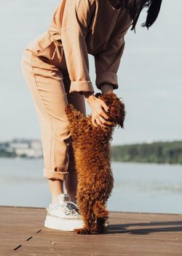
<path fill-rule="evenodd" d="M 135 30 L 136 23 L 141 14 L 143 8 L 148 8 L 146 22 L 142 23 L 142 26 L 146 26 L 147 29 L 157 20 L 159 10 L 162 4 L 162 0 L 124 0 L 124 6 L 130 13 L 132 18 L 132 28 Z"/>

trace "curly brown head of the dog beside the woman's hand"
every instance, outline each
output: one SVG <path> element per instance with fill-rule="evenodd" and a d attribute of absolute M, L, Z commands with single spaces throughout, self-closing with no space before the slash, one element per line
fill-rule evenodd
<path fill-rule="evenodd" d="M 109 121 L 113 122 L 114 126 L 118 124 L 124 127 L 125 109 L 124 103 L 118 98 L 113 91 L 108 91 L 107 94 L 95 94 L 95 97 L 102 99 L 108 106 L 110 112 L 107 115 L 110 117 Z"/>

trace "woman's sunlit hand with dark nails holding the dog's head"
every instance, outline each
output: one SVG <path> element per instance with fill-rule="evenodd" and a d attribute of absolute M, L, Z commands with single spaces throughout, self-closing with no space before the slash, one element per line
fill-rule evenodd
<path fill-rule="evenodd" d="M 107 128 L 107 125 L 111 125 L 111 121 L 106 121 L 108 119 L 108 112 L 109 108 L 102 99 L 98 99 L 92 93 L 84 93 L 84 97 L 87 100 L 90 108 L 92 110 L 92 124 L 94 127 L 98 127 L 100 125 L 103 128 Z M 106 112 L 105 112 L 105 111 Z"/>

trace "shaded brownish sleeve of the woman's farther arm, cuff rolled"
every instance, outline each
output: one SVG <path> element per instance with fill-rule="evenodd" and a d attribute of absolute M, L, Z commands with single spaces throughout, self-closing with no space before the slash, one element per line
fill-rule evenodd
<path fill-rule="evenodd" d="M 116 72 L 119 69 L 119 64 L 124 51 L 124 36 L 117 37 L 111 42 L 111 45 L 96 54 L 95 57 L 95 84 L 98 89 L 102 84 L 110 84 L 113 89 L 118 89 L 118 81 Z"/>

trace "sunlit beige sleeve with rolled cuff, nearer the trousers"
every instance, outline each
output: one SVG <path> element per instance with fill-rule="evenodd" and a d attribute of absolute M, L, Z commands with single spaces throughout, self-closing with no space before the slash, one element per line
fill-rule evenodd
<path fill-rule="evenodd" d="M 66 0 L 60 33 L 71 80 L 70 93 L 94 92 L 85 42 L 87 26 L 94 10 L 94 1 Z"/>

